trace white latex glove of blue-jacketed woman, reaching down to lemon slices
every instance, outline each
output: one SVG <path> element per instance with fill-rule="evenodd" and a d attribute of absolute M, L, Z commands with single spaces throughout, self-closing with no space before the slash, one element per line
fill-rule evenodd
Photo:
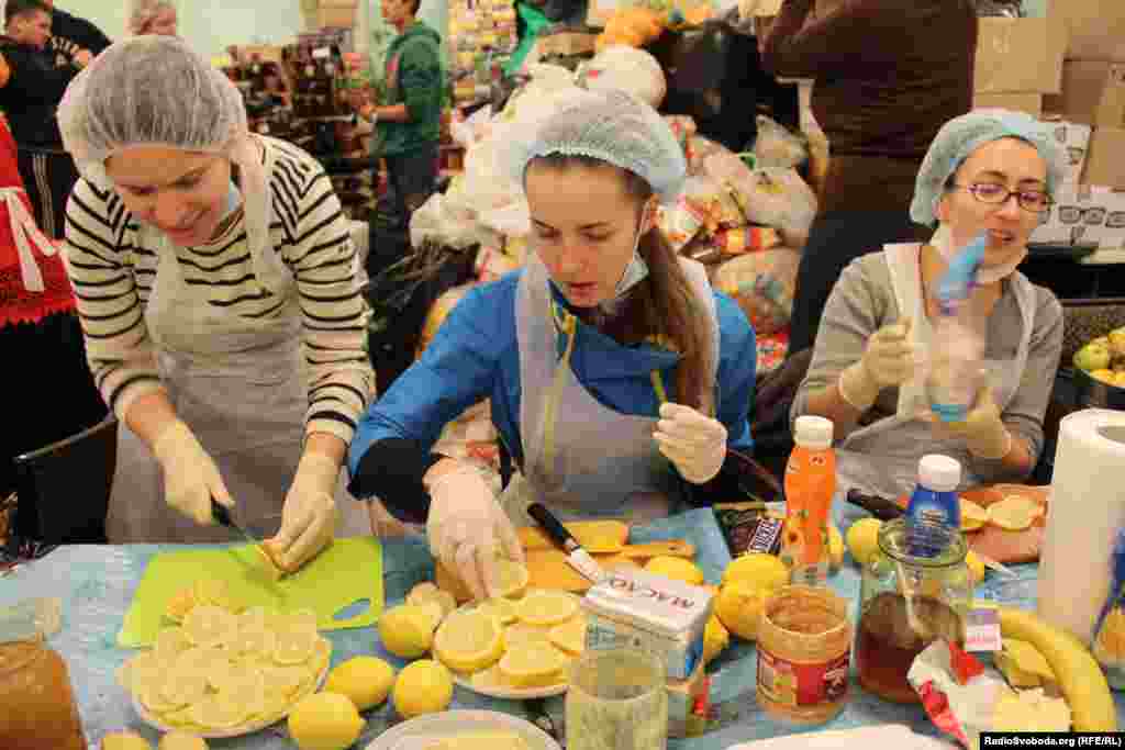
<path fill-rule="evenodd" d="M 460 577 L 475 599 L 496 595 L 496 557 L 523 562 L 523 545 L 477 469 L 461 466 L 426 482 L 430 552 Z"/>

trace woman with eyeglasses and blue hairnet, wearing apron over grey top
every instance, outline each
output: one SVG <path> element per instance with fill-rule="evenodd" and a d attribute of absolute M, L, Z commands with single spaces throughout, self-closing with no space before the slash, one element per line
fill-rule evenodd
<path fill-rule="evenodd" d="M 794 419 L 816 414 L 835 422 L 838 489 L 908 493 L 927 453 L 961 461 L 963 487 L 1030 475 L 1063 320 L 1055 296 L 1016 268 L 1051 207 L 1062 163 L 1046 127 L 1019 112 L 978 110 L 937 134 L 910 206 L 911 218 L 936 225 L 936 233 L 925 244 L 886 245 L 845 269 L 793 403 Z M 987 249 L 966 304 L 984 343 L 984 377 L 966 419 L 945 424 L 929 414 L 919 363 L 937 322 L 937 282 L 982 233 Z M 837 504 L 845 525 L 855 512 Z"/>

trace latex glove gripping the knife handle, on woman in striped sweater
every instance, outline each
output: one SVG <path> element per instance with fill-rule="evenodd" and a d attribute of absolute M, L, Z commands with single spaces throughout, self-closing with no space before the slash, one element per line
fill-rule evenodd
<path fill-rule="evenodd" d="M 172 419 L 153 441 L 152 452 L 164 470 L 164 501 L 200 526 L 215 523 L 210 501 L 234 507 L 215 461 L 191 428 Z"/>

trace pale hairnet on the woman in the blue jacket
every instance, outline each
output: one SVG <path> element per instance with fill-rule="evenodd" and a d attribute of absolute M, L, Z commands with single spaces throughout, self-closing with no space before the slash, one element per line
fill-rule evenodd
<path fill-rule="evenodd" d="M 550 114 L 513 128 L 500 151 L 504 172 L 523 186 L 528 163 L 539 156 L 590 156 L 640 177 L 673 202 L 687 174 L 683 148 L 655 109 L 616 89 L 561 92 Z"/>

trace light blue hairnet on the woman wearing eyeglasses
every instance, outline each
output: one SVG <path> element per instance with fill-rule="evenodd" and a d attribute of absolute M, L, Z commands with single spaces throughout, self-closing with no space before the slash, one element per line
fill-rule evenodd
<path fill-rule="evenodd" d="M 1024 112 L 978 109 L 955 117 L 938 130 L 918 171 L 910 218 L 918 224 L 937 223 L 937 204 L 950 177 L 979 147 L 1000 138 L 1019 138 L 1035 146 L 1047 164 L 1047 190 L 1062 181 L 1063 154 L 1051 126 Z"/>

